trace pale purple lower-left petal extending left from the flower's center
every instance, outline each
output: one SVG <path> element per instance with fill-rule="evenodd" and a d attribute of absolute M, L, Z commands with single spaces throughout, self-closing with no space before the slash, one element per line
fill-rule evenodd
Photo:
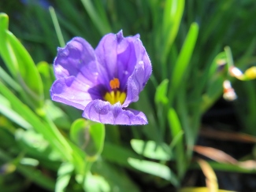
<path fill-rule="evenodd" d="M 57 79 L 50 89 L 50 96 L 55 102 L 72 105 L 82 110 L 93 99 L 102 98 L 96 87 L 91 88 L 74 76 Z"/>

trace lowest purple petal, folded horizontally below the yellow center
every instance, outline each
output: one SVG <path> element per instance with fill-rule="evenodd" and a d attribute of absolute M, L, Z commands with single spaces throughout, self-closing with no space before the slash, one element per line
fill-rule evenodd
<path fill-rule="evenodd" d="M 119 102 L 111 105 L 109 102 L 94 100 L 85 107 L 82 116 L 102 124 L 147 124 L 147 117 L 142 112 L 122 109 Z"/>

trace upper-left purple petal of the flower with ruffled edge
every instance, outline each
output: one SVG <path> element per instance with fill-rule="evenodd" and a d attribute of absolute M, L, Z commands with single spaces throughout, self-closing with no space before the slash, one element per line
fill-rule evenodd
<path fill-rule="evenodd" d="M 54 60 L 54 73 L 57 79 L 76 76 L 87 85 L 97 81 L 97 65 L 95 50 L 80 37 L 75 37 L 64 48 L 58 48 Z"/>

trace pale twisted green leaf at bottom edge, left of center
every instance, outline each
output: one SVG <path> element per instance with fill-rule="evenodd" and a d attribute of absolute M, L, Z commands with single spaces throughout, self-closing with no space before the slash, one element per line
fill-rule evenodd
<path fill-rule="evenodd" d="M 69 185 L 69 180 L 73 171 L 74 166 L 72 164 L 61 164 L 60 168 L 58 169 L 58 178 L 55 186 L 55 192 L 65 191 L 65 188 Z"/>

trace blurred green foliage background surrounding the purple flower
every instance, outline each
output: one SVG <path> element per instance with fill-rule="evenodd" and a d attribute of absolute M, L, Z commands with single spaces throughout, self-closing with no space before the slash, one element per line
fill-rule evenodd
<path fill-rule="evenodd" d="M 3 0 L 0 12 L 2 191 L 256 189 L 254 0 Z M 121 29 L 153 66 L 131 106 L 149 124 L 95 124 L 50 101 L 57 47 Z"/>

